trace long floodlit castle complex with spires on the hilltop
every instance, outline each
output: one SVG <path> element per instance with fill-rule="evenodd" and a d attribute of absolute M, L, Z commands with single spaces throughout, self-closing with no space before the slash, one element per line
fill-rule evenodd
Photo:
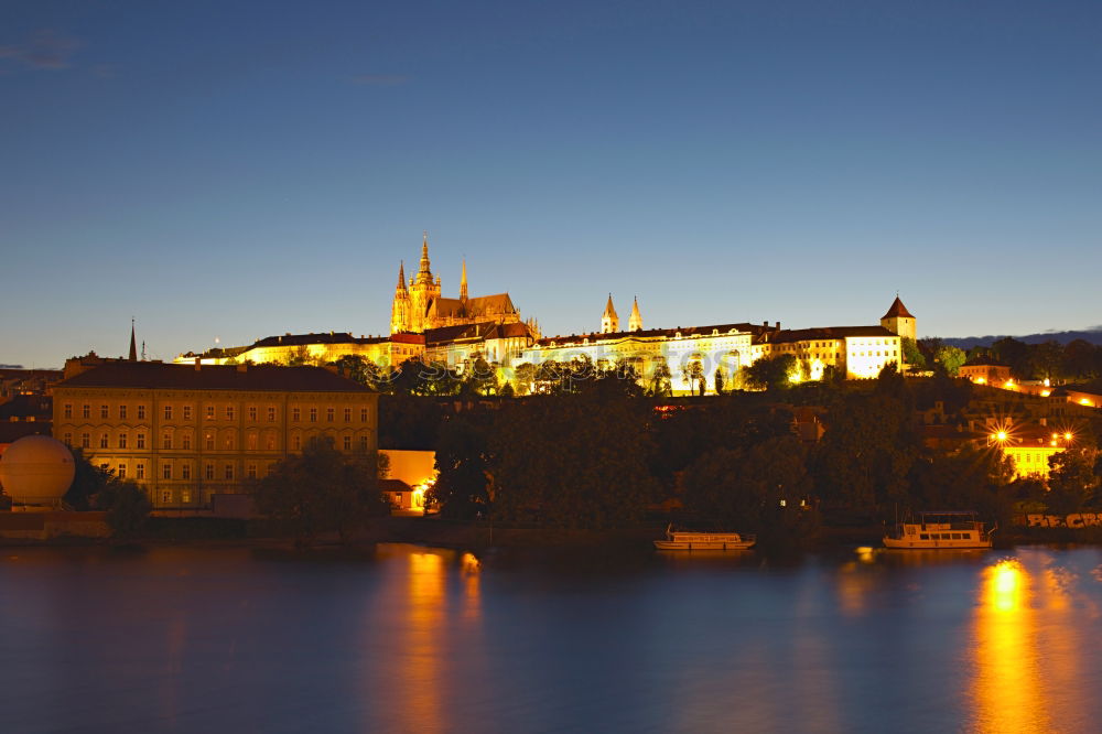
<path fill-rule="evenodd" d="M 635 299 L 627 328 L 622 330 L 609 294 L 599 330 L 544 337 L 534 319 L 521 320 L 508 293 L 469 298 L 465 261 L 458 291 L 458 298 L 442 295 L 441 279 L 430 266 L 425 235 L 417 274 L 407 280 L 404 263 L 399 265 L 389 335 L 284 334 L 249 346 L 187 353 L 176 361 L 325 364 L 355 355 L 381 369 L 420 359 L 462 373 L 473 361 L 484 359 L 497 368 L 499 378 L 511 380 L 523 364 L 588 359 L 601 367 L 630 365 L 647 381 L 656 374 L 667 375 L 673 395 L 688 395 L 714 391 L 716 376 L 724 386 L 736 387 L 743 367 L 780 354 L 796 358 L 796 380 L 820 379 L 828 369 L 850 379 L 876 377 L 888 364 L 904 366 L 901 341 L 914 339 L 917 333 L 915 316 L 898 296 L 879 324 L 803 330 L 781 330 L 779 322 L 647 330 Z"/>

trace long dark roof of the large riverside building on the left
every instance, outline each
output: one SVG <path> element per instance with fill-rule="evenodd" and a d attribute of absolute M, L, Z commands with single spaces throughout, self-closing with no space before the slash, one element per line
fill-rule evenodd
<path fill-rule="evenodd" d="M 258 365 L 165 365 L 151 361 L 109 363 L 58 382 L 55 387 L 109 387 L 163 390 L 261 390 L 291 392 L 368 392 L 322 367 Z"/>

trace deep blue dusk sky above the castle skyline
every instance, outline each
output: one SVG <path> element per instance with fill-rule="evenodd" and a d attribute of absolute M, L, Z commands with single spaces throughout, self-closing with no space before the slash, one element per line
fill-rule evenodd
<path fill-rule="evenodd" d="M 1102 323 L 1102 4 L 0 6 L 0 363 L 378 334 L 430 233 L 544 333 Z"/>

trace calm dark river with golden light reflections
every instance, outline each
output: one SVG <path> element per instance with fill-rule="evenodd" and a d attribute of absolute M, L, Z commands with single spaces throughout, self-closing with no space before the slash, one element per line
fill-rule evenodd
<path fill-rule="evenodd" d="M 1102 552 L 0 549 L 0 731 L 1102 731 Z"/>

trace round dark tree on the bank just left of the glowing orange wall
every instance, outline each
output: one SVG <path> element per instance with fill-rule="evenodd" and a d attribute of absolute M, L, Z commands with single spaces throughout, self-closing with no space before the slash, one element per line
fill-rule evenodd
<path fill-rule="evenodd" d="M 388 514 L 377 474 L 375 456 L 342 454 L 329 436 L 317 436 L 252 483 L 252 495 L 257 509 L 281 522 L 302 548 L 324 532 L 346 540 L 368 518 Z"/>

